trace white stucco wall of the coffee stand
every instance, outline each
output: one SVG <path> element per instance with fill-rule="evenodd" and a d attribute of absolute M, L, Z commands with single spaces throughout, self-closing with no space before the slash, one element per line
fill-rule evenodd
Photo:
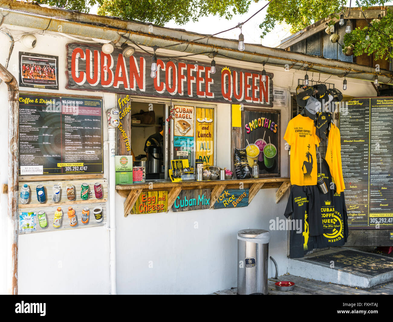
<path fill-rule="evenodd" d="M 15 33 L 17 34 L 17 33 Z M 116 104 L 115 94 L 66 90 L 65 45 L 70 39 L 36 35 L 34 50 L 15 43 L 8 69 L 18 79 L 18 52 L 59 56 L 59 90 L 21 88 L 55 94 L 103 95 L 106 108 Z M 15 37 L 18 38 L 18 37 Z M 9 41 L 0 34 L 0 63 L 5 64 Z M 209 61 L 203 58 L 198 61 Z M 216 59 L 219 63 L 219 59 Z M 221 60 L 221 63 L 229 63 Z M 233 64 L 233 62 L 231 62 Z M 237 63 L 238 67 L 259 68 L 257 64 Z M 274 83 L 294 90 L 295 71 L 266 65 Z M 301 74 L 301 73 L 300 73 Z M 328 76 L 327 76 L 328 77 Z M 327 78 L 324 77 L 323 79 Z M 342 81 L 337 79 L 338 85 Z M 362 86 L 359 86 L 362 85 Z M 352 86 L 354 85 L 354 86 Z M 365 82 L 348 79 L 352 96 L 374 95 Z M 372 88 L 372 86 L 371 86 Z M 0 86 L 3 126 L 0 127 L 0 151 L 7 151 L 7 88 Z M 288 96 L 288 103 L 290 97 Z M 289 106 L 289 105 L 288 105 Z M 288 123 L 289 108 L 281 110 L 281 138 Z M 229 104 L 217 105 L 217 164 L 230 167 L 231 115 Z M 107 132 L 104 124 L 104 139 Z M 281 174 L 288 175 L 288 155 L 281 140 Z M 105 149 L 105 153 L 107 150 Z M 105 154 L 106 155 L 106 154 Z M 105 157 L 105 177 L 108 158 Z M 0 153 L 0 183 L 7 183 L 7 154 Z M 287 196 L 287 195 L 286 195 Z M 244 228 L 268 229 L 269 220 L 282 217 L 286 196 L 275 204 L 275 189 L 261 190 L 246 208 L 229 210 L 169 211 L 149 215 L 123 216 L 124 198 L 116 194 L 117 279 L 119 294 L 208 294 L 237 285 L 237 231 Z M 0 293 L 7 292 L 7 196 L 0 195 Z M 105 227 L 64 230 L 19 236 L 20 294 L 108 294 L 110 292 L 108 230 Z M 271 232 L 269 255 L 287 270 L 286 231 Z M 274 276 L 269 261 L 268 276 Z"/>

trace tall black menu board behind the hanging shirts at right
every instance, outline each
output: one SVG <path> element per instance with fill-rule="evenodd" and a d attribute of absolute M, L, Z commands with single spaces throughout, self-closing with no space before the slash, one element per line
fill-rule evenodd
<path fill-rule="evenodd" d="M 348 226 L 393 227 L 393 98 L 360 98 L 340 112 Z"/>

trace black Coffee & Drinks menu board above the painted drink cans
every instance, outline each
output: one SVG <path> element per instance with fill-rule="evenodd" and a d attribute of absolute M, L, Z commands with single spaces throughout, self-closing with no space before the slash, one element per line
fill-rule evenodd
<path fill-rule="evenodd" d="M 19 95 L 19 175 L 102 173 L 102 100 Z"/>

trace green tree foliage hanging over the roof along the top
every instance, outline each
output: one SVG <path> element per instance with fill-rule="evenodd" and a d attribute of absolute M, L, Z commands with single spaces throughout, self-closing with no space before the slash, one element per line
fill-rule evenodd
<path fill-rule="evenodd" d="M 116 16 L 124 20 L 140 20 L 163 26 L 171 20 L 182 25 L 191 20 L 198 21 L 200 17 L 208 15 L 217 15 L 229 20 L 233 15 L 247 13 L 251 1 L 260 2 L 261 7 L 266 4 L 266 0 L 38 0 L 37 2 L 80 12 L 88 12 L 88 6 L 98 4 L 99 15 Z M 358 1 L 364 9 L 385 3 L 385 0 Z M 266 17 L 259 25 L 261 37 L 271 31 L 275 24 L 281 22 L 290 24 L 291 31 L 295 33 L 322 18 L 339 18 L 342 6 L 345 4 L 346 0 L 272 0 L 267 8 Z M 252 13 L 249 12 L 250 15 Z M 253 19 L 261 15 L 262 13 Z M 239 22 L 241 21 L 234 22 L 233 26 Z M 345 46 L 353 44 L 356 56 L 374 53 L 376 58 L 393 58 L 393 53 L 389 50 L 393 45 L 390 36 L 392 26 L 393 13 L 389 10 L 387 16 L 372 27 L 357 28 L 345 35 L 344 44 Z M 369 40 L 365 40 L 366 31 L 370 36 Z"/>

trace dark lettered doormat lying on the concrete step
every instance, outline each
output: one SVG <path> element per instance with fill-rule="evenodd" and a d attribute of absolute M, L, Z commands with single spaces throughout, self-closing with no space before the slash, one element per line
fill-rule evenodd
<path fill-rule="evenodd" d="M 355 250 L 342 250 L 328 255 L 310 257 L 307 260 L 334 265 L 334 268 L 352 270 L 369 276 L 393 271 L 393 259 Z"/>

